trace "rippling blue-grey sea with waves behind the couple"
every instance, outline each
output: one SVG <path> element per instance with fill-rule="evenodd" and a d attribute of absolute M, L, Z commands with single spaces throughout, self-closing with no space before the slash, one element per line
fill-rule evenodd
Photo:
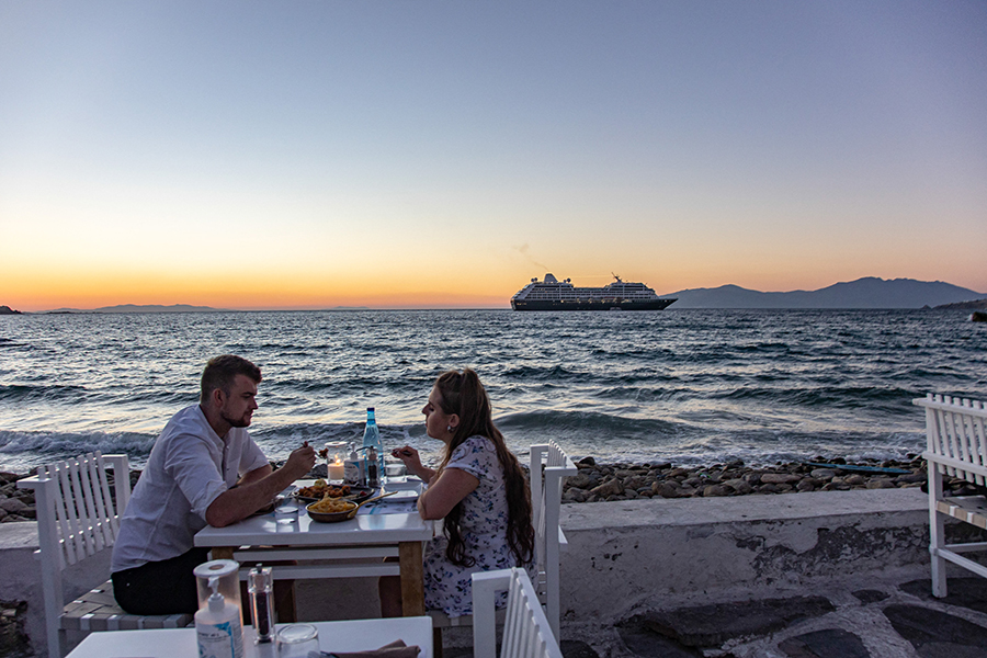
<path fill-rule="evenodd" d="M 0 470 L 100 450 L 141 467 L 198 399 L 205 362 L 263 373 L 251 434 L 271 460 L 304 441 L 441 444 L 435 377 L 476 370 L 510 447 L 558 442 L 598 463 L 901 460 L 928 393 L 987 399 L 987 325 L 945 310 L 518 313 L 324 310 L 0 316 Z"/>

